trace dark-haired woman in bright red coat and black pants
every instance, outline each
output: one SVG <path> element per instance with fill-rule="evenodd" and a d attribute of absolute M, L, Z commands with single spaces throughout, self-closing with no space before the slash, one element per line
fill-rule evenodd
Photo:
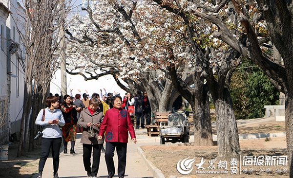
<path fill-rule="evenodd" d="M 113 97 L 113 108 L 106 111 L 102 122 L 98 140 L 102 140 L 106 132 L 105 142 L 105 161 L 108 170 L 108 178 L 115 175 L 114 150 L 117 150 L 118 156 L 118 177 L 124 178 L 126 167 L 126 151 L 128 132 L 132 142 L 136 143 L 135 132 L 129 113 L 121 108 L 122 98 L 119 95 Z"/>

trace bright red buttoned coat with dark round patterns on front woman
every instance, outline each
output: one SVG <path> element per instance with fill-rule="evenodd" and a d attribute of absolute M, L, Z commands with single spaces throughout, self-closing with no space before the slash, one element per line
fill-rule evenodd
<path fill-rule="evenodd" d="M 131 139 L 135 138 L 134 128 L 129 113 L 125 109 L 107 110 L 100 127 L 99 135 L 105 135 L 105 142 L 128 142 L 128 131 Z"/>

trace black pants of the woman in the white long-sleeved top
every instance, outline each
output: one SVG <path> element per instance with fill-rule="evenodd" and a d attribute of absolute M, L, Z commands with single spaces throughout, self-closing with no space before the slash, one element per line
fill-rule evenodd
<path fill-rule="evenodd" d="M 42 138 L 42 155 L 39 162 L 39 173 L 42 173 L 45 162 L 49 156 L 50 149 L 52 148 L 53 169 L 54 175 L 58 172 L 59 168 L 59 155 L 62 138 Z"/>

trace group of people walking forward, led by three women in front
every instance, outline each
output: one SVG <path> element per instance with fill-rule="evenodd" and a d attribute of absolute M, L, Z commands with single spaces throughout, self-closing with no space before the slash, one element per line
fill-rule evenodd
<path fill-rule="evenodd" d="M 76 98 L 80 99 L 80 95 Z M 119 95 L 113 96 L 111 100 L 113 107 L 110 108 L 109 105 L 100 100 L 98 93 L 93 93 L 91 99 L 84 97 L 83 100 L 88 101 L 87 107 L 84 104 L 84 109 L 75 104 L 80 103 L 79 101 L 73 103 L 69 95 L 64 96 L 62 106 L 58 99 L 56 96 L 48 96 L 46 98 L 47 107 L 39 112 L 36 119 L 36 125 L 41 125 L 43 128 L 42 155 L 37 178 L 42 178 L 43 167 L 50 149 L 53 157 L 53 176 L 59 178 L 58 168 L 62 140 L 64 144 L 63 153 L 67 153 L 67 143 L 70 141 L 70 153 L 74 154 L 77 126 L 83 129 L 81 143 L 83 143 L 83 162 L 87 177 L 97 177 L 101 150 L 105 140 L 105 161 L 108 178 L 112 178 L 115 174 L 113 161 L 115 148 L 119 160 L 118 177 L 124 178 L 128 132 L 132 142 L 136 143 L 136 137 L 129 112 L 122 107 L 122 98 Z M 82 102 L 84 103 L 84 101 Z M 62 127 L 62 130 L 60 127 Z M 92 153 L 93 163 L 91 165 Z"/>

